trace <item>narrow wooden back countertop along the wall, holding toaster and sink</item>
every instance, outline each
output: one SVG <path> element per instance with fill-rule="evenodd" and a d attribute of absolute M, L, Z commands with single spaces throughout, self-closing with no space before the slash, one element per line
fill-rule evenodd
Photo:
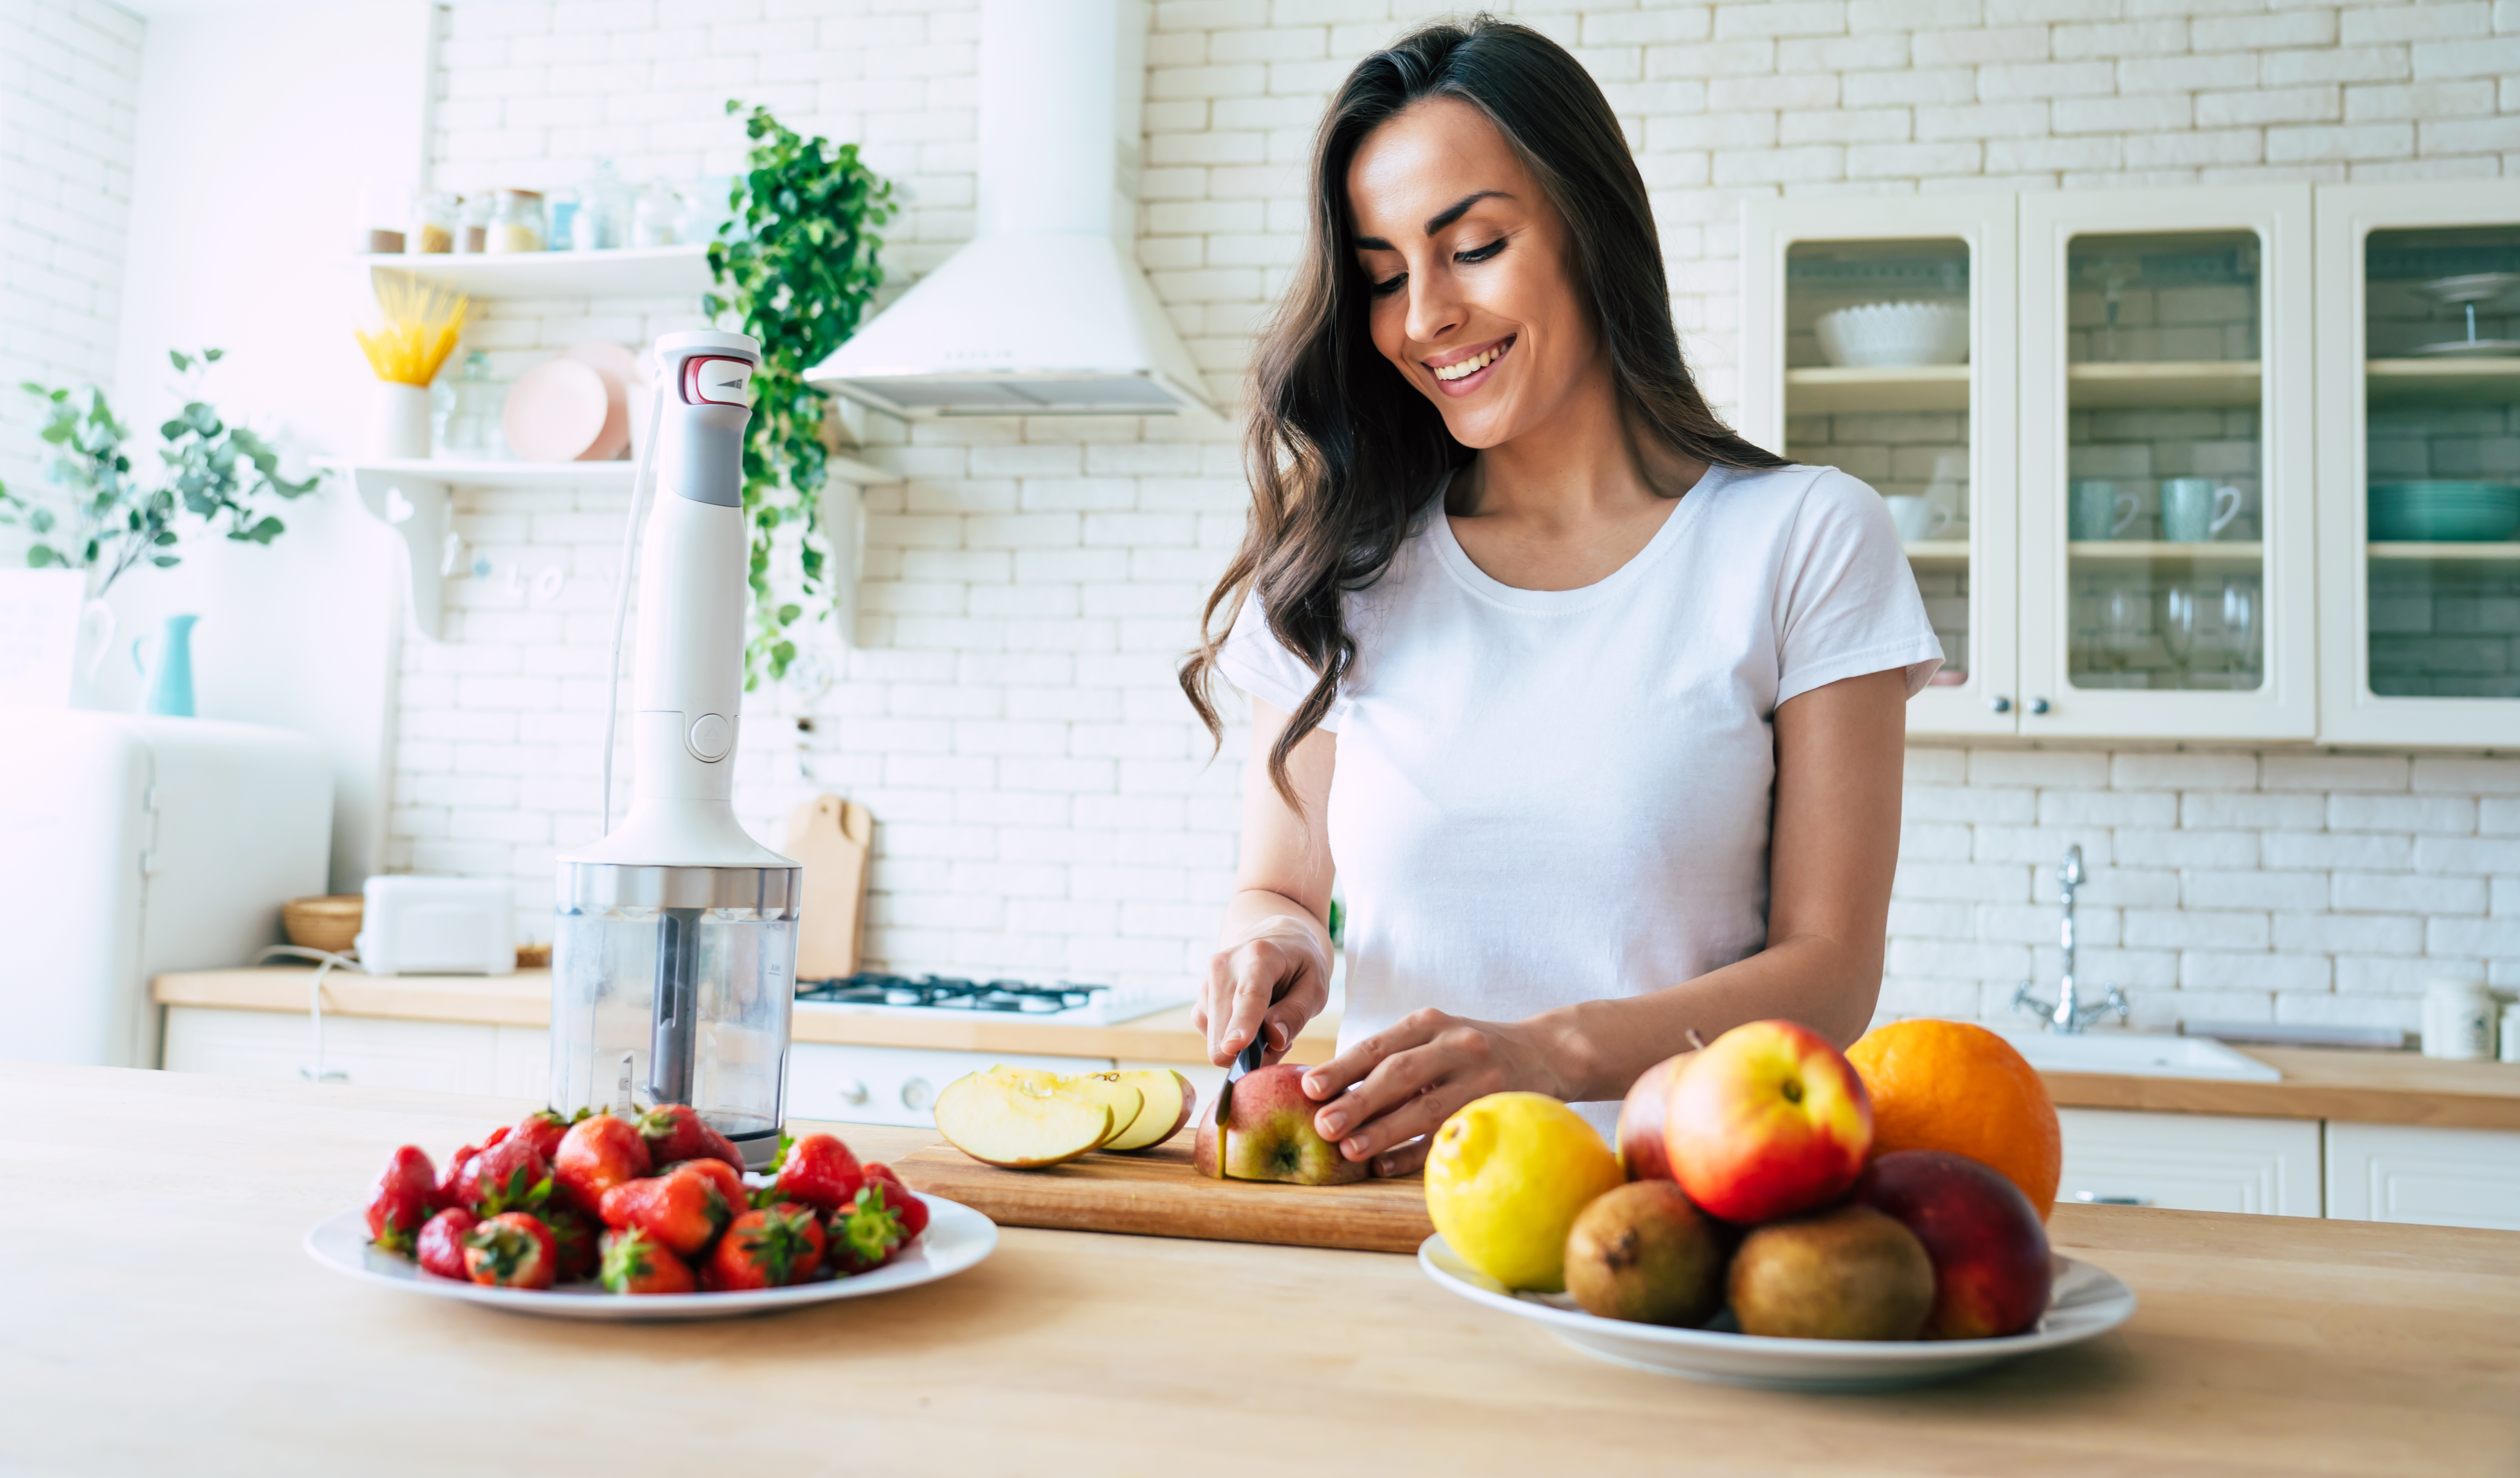
<path fill-rule="evenodd" d="M 169 1006 L 232 1011 L 305 1011 L 310 966 L 249 971 L 181 971 L 156 979 Z M 514 976 L 355 976 L 325 979 L 325 1009 L 350 1016 L 416 1021 L 486 1021 L 542 1027 L 549 1021 L 549 971 Z M 799 1011 L 796 1042 L 854 1047 L 932 1047 L 1043 1057 L 1114 1057 L 1134 1062 L 1207 1062 L 1189 1029 L 1189 1006 L 1116 1027 L 970 1016 L 857 1016 Z M 1298 1062 L 1336 1052 L 1338 1016 L 1323 1016 L 1295 1039 Z M 2278 1120 L 2346 1120 L 2366 1125 L 2432 1125 L 2520 1130 L 2520 1064 L 2439 1062 L 2414 1052 L 2336 1052 L 2313 1047 L 2243 1047 L 2283 1072 L 2283 1082 L 2210 1077 L 2127 1077 L 2112 1072 L 2046 1072 L 2059 1107 L 2160 1110 L 2190 1115 L 2253 1115 Z"/>

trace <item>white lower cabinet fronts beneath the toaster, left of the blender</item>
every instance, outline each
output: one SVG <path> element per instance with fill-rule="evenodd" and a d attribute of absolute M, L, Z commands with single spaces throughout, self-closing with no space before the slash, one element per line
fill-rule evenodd
<path fill-rule="evenodd" d="M 325 1014 L 323 1067 L 358 1087 L 544 1097 L 549 1042 L 542 1027 Z M 164 1067 L 297 1082 L 315 1069 L 315 1024 L 280 1011 L 166 1006 Z"/>

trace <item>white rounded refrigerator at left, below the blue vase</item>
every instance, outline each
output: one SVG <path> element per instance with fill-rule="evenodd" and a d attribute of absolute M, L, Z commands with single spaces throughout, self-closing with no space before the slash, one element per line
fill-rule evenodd
<path fill-rule="evenodd" d="M 151 976 L 280 943 L 330 847 L 333 762 L 302 734 L 0 709 L 0 1057 L 156 1067 Z"/>

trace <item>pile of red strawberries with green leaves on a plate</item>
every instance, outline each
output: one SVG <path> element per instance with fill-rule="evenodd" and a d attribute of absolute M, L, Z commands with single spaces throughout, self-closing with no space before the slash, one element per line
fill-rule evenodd
<path fill-rule="evenodd" d="M 879 1269 L 927 1228 L 887 1165 L 834 1135 L 781 1140 L 769 1185 L 683 1105 L 635 1120 L 529 1115 L 438 1175 L 403 1145 L 368 1188 L 368 1238 L 499 1289 L 600 1279 L 615 1294 L 781 1289 Z"/>

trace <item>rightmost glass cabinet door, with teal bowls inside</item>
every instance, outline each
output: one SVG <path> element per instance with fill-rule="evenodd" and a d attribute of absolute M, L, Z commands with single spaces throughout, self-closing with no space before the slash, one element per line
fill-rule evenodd
<path fill-rule="evenodd" d="M 2323 731 L 2512 744 L 2520 189 L 2336 187 L 2318 212 Z"/>

